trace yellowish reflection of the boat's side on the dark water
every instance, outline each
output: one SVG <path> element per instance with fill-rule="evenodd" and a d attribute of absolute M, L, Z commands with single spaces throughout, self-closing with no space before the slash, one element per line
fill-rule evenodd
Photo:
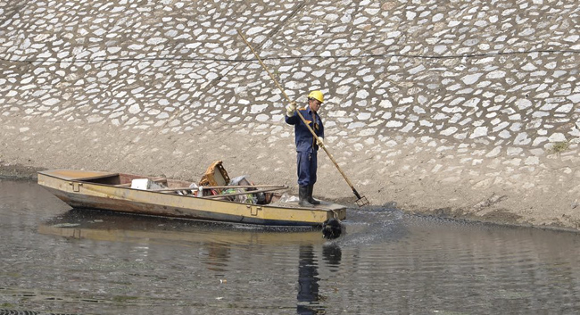
<path fill-rule="evenodd" d="M 40 224 L 38 233 L 98 241 L 146 241 L 171 245 L 300 245 L 325 242 L 319 230 L 311 227 L 259 227 L 79 209 L 67 211 Z"/>

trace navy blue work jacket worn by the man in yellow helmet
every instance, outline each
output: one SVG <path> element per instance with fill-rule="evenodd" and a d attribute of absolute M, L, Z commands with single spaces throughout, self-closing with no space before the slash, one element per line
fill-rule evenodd
<path fill-rule="evenodd" d="M 302 113 L 304 120 L 308 122 L 312 130 L 316 133 L 317 137 L 324 137 L 324 126 L 322 125 L 322 120 L 320 116 L 311 111 L 310 106 L 298 109 Z M 307 152 L 313 149 L 317 151 L 319 145 L 316 144 L 316 139 L 312 137 L 311 131 L 306 128 L 304 122 L 300 119 L 297 112 L 294 112 L 292 117 L 286 116 L 286 123 L 289 125 L 294 125 L 294 139 L 296 142 L 297 152 Z"/>

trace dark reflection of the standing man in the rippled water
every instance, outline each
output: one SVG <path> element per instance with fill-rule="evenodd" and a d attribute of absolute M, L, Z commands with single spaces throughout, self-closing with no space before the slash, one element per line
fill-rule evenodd
<path fill-rule="evenodd" d="M 319 271 L 317 261 L 314 260 L 312 245 L 300 246 L 300 261 L 298 262 L 298 314 L 323 314 L 324 307 L 318 303 Z"/>

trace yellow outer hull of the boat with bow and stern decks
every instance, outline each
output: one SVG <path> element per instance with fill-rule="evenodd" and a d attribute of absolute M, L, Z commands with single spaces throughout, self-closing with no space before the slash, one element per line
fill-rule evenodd
<path fill-rule="evenodd" d="M 64 203 L 80 209 L 279 226 L 319 226 L 328 219 L 344 220 L 346 217 L 345 207 L 335 203 L 322 203 L 312 208 L 298 207 L 293 203 L 235 203 L 116 187 L 87 180 L 114 175 L 103 172 L 47 170 L 38 173 L 38 184 Z"/>

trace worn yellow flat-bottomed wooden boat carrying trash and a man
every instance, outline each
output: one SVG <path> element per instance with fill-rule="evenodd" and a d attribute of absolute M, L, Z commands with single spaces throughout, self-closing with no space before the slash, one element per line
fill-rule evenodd
<path fill-rule="evenodd" d="M 219 172 L 216 174 L 220 175 Z M 146 179 L 162 184 L 162 187 L 132 188 L 134 179 Z M 221 179 L 223 184 L 224 178 Z M 215 184 L 216 181 L 211 182 Z M 242 192 L 228 194 L 228 186 L 223 185 L 192 188 L 194 183 L 177 179 L 91 170 L 39 171 L 38 184 L 73 208 L 275 226 L 318 227 L 327 220 L 344 220 L 346 217 L 344 205 L 321 202 L 304 208 L 295 201 L 284 201 L 277 191 L 286 189 L 286 186 L 232 186 Z M 203 191 L 214 194 L 217 191 L 220 195 L 203 195 Z M 232 200 L 236 195 L 258 194 L 265 196 L 263 204 Z"/>

